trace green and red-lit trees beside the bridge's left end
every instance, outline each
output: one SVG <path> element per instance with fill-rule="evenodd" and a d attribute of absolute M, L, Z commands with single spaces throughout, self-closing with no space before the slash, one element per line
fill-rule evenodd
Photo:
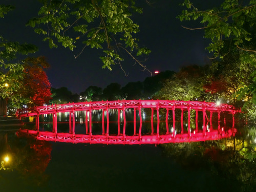
<path fill-rule="evenodd" d="M 0 17 L 12 9 L 12 6 L 0 5 Z M 42 70 L 46 61 L 42 57 L 16 61 L 19 54 L 28 55 L 36 51 L 34 45 L 19 44 L 0 35 L 0 100 L 9 99 L 17 108 L 23 104 L 41 105 L 49 101 L 50 83 Z M 1 103 L 0 108 L 6 108 L 5 103 Z M 6 112 L 0 115 L 6 115 Z"/>

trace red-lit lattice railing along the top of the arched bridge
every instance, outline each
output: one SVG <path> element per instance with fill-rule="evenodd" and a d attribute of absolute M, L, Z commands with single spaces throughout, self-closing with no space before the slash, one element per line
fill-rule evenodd
<path fill-rule="evenodd" d="M 17 115 L 38 113 L 43 114 L 47 112 L 61 112 L 69 110 L 99 110 L 99 109 L 122 109 L 122 108 L 195 108 L 206 110 L 220 110 L 229 112 L 239 112 L 239 109 L 234 108 L 229 104 L 217 104 L 214 102 L 205 101 L 176 101 L 176 100 L 117 100 L 117 101 L 90 101 L 66 104 L 54 104 L 45 106 L 36 106 L 35 108 L 26 108 L 17 111 Z"/>

